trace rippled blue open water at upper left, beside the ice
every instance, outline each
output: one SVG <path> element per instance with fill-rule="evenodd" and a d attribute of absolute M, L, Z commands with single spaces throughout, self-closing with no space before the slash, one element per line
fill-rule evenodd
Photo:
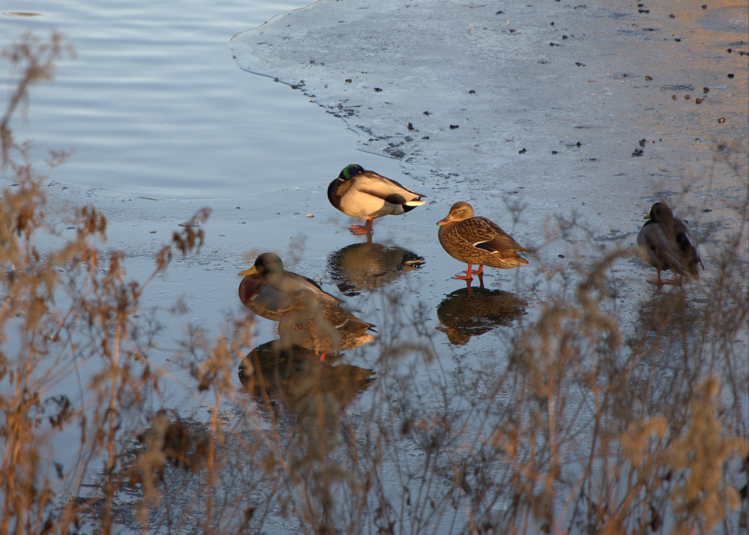
<path fill-rule="evenodd" d="M 357 151 L 357 134 L 299 92 L 237 68 L 232 35 L 307 4 L 5 2 L 2 48 L 26 31 L 56 30 L 76 50 L 58 61 L 54 82 L 31 89 L 16 138 L 33 139 L 40 158 L 72 149 L 52 178 L 109 196 L 246 196 L 327 184 L 345 164 L 386 161 Z M 11 69 L 1 80 L 6 94 L 17 79 Z"/>

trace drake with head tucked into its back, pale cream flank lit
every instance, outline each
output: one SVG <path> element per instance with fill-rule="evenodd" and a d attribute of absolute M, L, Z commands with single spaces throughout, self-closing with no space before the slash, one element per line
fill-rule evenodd
<path fill-rule="evenodd" d="M 347 216 L 367 220 L 366 225 L 352 225 L 353 234 L 371 234 L 372 220 L 400 215 L 423 205 L 423 195 L 374 171 L 365 171 L 356 163 L 346 166 L 328 186 L 330 204 Z"/>

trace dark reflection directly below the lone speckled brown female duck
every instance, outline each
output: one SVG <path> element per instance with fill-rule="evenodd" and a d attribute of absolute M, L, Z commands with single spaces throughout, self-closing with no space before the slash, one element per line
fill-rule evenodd
<path fill-rule="evenodd" d="M 447 295 L 437 306 L 437 318 L 453 345 L 464 345 L 500 325 L 509 325 L 526 314 L 527 301 L 503 290 L 461 288 Z"/>

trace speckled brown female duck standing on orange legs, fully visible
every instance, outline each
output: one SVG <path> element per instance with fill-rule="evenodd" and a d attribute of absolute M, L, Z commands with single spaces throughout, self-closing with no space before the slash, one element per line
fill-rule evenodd
<path fill-rule="evenodd" d="M 452 258 L 468 265 L 464 276 L 455 275 L 452 278 L 467 281 L 469 287 L 474 273 L 479 276 L 483 287 L 485 265 L 510 269 L 528 263 L 518 252 L 530 251 L 521 247 L 486 217 L 476 217 L 473 207 L 467 202 L 460 201 L 452 205 L 450 213 L 443 220 L 437 221 L 437 225 L 440 226 L 437 236 L 443 249 Z M 479 265 L 478 271 L 471 271 L 474 264 Z"/>

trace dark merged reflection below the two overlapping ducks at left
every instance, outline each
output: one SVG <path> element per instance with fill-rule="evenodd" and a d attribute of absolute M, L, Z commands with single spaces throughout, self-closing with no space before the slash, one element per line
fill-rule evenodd
<path fill-rule="evenodd" d="M 294 412 L 302 410 L 310 396 L 320 393 L 345 407 L 375 381 L 375 372 L 335 360 L 329 357 L 319 364 L 309 358 L 309 350 L 297 346 L 282 349 L 279 341 L 273 340 L 250 351 L 242 359 L 238 375 L 249 392 L 262 399 L 277 399 Z"/>

